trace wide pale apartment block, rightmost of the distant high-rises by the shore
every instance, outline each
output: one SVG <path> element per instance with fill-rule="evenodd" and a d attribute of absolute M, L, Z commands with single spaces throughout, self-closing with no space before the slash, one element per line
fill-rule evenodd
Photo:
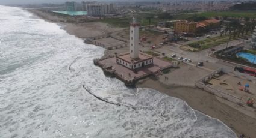
<path fill-rule="evenodd" d="M 86 9 L 89 16 L 103 16 L 114 13 L 113 4 L 87 4 Z"/>

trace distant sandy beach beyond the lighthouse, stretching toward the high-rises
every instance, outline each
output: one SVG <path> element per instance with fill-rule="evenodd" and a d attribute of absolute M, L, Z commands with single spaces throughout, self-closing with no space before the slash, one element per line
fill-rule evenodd
<path fill-rule="evenodd" d="M 28 10 L 30 13 L 39 16 L 42 19 L 47 20 L 48 22 L 59 23 L 63 25 L 63 29 L 67 33 L 75 35 L 79 38 L 90 38 L 100 35 L 105 35 L 111 32 L 121 31 L 123 28 L 113 28 L 107 23 L 102 22 L 92 22 L 93 19 L 84 19 L 83 17 L 70 17 L 70 16 L 61 16 L 55 13 L 49 13 L 41 10 Z M 86 20 L 86 22 L 83 22 Z"/>

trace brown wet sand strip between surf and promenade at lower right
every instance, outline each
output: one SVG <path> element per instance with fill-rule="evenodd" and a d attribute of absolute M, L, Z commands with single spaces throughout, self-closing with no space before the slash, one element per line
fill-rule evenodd
<path fill-rule="evenodd" d="M 231 106 L 221 103 L 214 95 L 198 88 L 170 86 L 160 83 L 155 77 L 140 80 L 139 88 L 152 88 L 172 97 L 180 98 L 195 110 L 217 118 L 230 127 L 237 136 L 256 137 L 256 119 L 251 118 Z M 237 105 L 234 105 L 237 106 Z"/>

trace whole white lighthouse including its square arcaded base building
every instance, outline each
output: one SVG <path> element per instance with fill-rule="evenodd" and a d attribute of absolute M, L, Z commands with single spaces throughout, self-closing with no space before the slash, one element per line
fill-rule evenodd
<path fill-rule="evenodd" d="M 130 23 L 130 52 L 116 56 L 116 62 L 131 70 L 153 64 L 152 56 L 139 52 L 139 23 L 135 17 Z"/>

